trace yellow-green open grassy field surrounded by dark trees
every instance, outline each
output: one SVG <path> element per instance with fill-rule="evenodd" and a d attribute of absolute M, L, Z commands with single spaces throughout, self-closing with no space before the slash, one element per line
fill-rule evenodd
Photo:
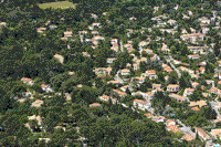
<path fill-rule="evenodd" d="M 41 9 L 67 9 L 67 8 L 75 8 L 76 4 L 69 2 L 69 1 L 60 1 L 60 2 L 50 2 L 50 3 L 43 3 L 39 4 Z"/>

